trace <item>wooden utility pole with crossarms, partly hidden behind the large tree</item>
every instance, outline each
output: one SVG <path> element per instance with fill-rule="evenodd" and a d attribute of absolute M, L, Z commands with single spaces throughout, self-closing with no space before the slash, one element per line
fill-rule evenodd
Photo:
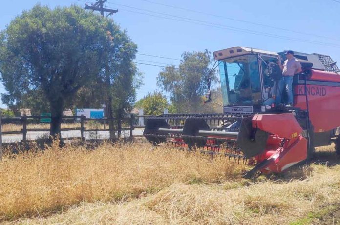
<path fill-rule="evenodd" d="M 104 17 L 104 13 L 108 13 L 106 16 L 110 16 L 114 13 L 118 12 L 118 9 L 108 9 L 104 7 L 104 4 L 107 0 L 96 0 L 96 3 L 92 5 L 85 4 L 85 9 L 90 9 L 92 11 L 99 11 L 100 15 Z M 106 59 L 108 60 L 108 59 Z M 109 93 L 109 89 L 111 86 L 111 78 L 108 70 L 108 64 L 105 66 L 105 82 L 106 82 L 106 103 L 105 103 L 105 114 L 108 119 L 109 131 L 110 131 L 110 140 L 114 140 L 116 135 L 114 131 L 114 121 L 112 118 L 112 98 Z M 118 122 L 119 123 L 119 122 Z M 119 124 L 118 124 L 119 126 Z"/>

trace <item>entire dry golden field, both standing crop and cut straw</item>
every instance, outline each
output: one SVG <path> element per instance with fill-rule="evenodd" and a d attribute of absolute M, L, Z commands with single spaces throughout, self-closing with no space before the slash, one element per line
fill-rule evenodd
<path fill-rule="evenodd" d="M 247 166 L 148 143 L 54 144 L 0 162 L 4 224 L 339 224 L 340 160 L 241 178 Z"/>

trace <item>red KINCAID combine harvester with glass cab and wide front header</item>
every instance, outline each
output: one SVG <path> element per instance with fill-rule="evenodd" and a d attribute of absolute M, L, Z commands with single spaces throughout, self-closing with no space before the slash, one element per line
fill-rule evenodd
<path fill-rule="evenodd" d="M 150 117 L 144 130 L 149 142 L 251 159 L 255 167 L 246 177 L 280 173 L 310 159 L 314 147 L 332 142 L 340 154 L 340 70 L 329 56 L 295 53 L 302 72 L 294 76 L 294 104 L 287 107 L 274 103 L 273 93 L 277 71 L 272 65 L 279 57 L 285 60 L 283 53 L 233 47 L 213 55 L 224 113 Z"/>

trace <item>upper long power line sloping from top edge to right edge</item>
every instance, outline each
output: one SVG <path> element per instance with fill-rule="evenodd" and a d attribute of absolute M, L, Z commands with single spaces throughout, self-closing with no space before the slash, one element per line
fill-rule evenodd
<path fill-rule="evenodd" d="M 150 1 L 150 0 L 141 0 L 141 1 L 149 2 L 149 3 L 157 4 L 157 5 L 162 5 L 162 6 L 166 6 L 166 7 L 170 7 L 170 8 L 174 8 L 174 9 L 181 9 L 181 10 L 185 10 L 185 11 L 188 11 L 188 12 L 208 15 L 208 16 L 212 16 L 212 17 L 216 17 L 216 18 L 223 18 L 223 19 L 227 19 L 227 20 L 234 20 L 234 21 L 238 21 L 238 22 L 268 27 L 268 28 L 277 29 L 277 30 L 289 31 L 289 32 L 297 33 L 297 34 L 303 34 L 303 35 L 309 35 L 309 36 L 315 36 L 315 37 L 319 37 L 319 38 L 327 38 L 327 39 L 333 39 L 333 40 L 340 40 L 340 39 L 337 39 L 337 38 L 332 38 L 332 37 L 327 37 L 327 36 L 322 36 L 322 35 L 316 35 L 316 34 L 311 34 L 311 33 L 305 33 L 305 32 L 301 32 L 301 31 L 297 31 L 297 30 L 290 30 L 290 29 L 286 29 L 286 28 L 282 28 L 282 27 L 276 27 L 276 26 L 271 26 L 271 25 L 257 23 L 257 22 L 239 20 L 239 19 L 235 19 L 235 18 L 231 18 L 231 17 L 225 17 L 225 16 L 216 15 L 216 14 L 212 14 L 212 13 L 206 13 L 206 12 L 202 12 L 202 11 L 187 9 L 187 8 L 183 8 L 183 7 L 179 7 L 179 6 L 163 4 L 163 3 L 154 2 L 154 1 Z M 332 0 L 332 1 L 340 3 L 340 1 L 338 1 L 338 0 Z"/>

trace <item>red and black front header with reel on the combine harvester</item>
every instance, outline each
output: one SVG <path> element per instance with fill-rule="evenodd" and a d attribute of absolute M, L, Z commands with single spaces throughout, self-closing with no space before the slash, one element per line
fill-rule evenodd
<path fill-rule="evenodd" d="M 150 143 L 170 143 L 236 162 L 257 162 L 248 177 L 282 172 L 307 158 L 307 140 L 292 113 L 182 114 L 147 119 L 144 136 Z"/>

